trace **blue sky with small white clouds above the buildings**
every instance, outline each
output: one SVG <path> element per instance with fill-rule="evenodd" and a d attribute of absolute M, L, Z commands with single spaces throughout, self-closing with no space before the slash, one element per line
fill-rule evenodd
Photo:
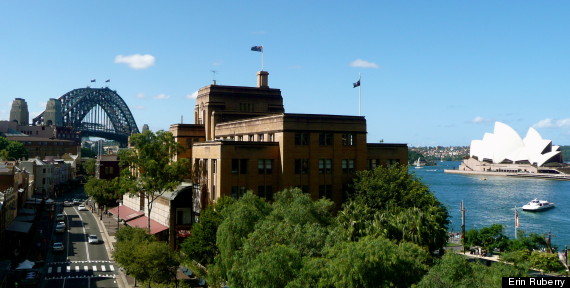
<path fill-rule="evenodd" d="M 570 2 L 331 3 L 2 1 L 0 120 L 109 84 L 139 128 L 194 123 L 212 70 L 255 86 L 263 45 L 286 112 L 358 115 L 361 73 L 370 143 L 468 146 L 501 121 L 570 145 Z"/>

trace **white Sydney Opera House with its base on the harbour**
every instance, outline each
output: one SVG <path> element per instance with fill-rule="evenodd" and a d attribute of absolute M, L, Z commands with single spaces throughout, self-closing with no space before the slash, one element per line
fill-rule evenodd
<path fill-rule="evenodd" d="M 477 174 L 565 174 L 568 171 L 560 147 L 552 145 L 551 140 L 542 139 L 534 128 L 530 128 L 523 139 L 501 122 L 495 122 L 493 133 L 485 133 L 482 140 L 471 141 L 469 156 L 456 171 Z"/>

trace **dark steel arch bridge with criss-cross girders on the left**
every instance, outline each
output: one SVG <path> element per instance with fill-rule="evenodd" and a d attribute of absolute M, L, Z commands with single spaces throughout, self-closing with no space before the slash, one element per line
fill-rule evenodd
<path fill-rule="evenodd" d="M 81 137 L 115 140 L 124 147 L 131 134 L 139 133 L 125 101 L 108 87 L 74 89 L 58 100 L 61 103 L 61 126 L 73 129 Z M 46 112 L 35 117 L 32 125 L 49 125 L 44 116 Z"/>

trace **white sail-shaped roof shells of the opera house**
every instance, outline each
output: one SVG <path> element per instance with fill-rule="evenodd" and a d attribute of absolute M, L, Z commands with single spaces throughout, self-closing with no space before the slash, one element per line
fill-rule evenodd
<path fill-rule="evenodd" d="M 493 133 L 485 133 L 483 140 L 471 141 L 470 156 L 479 161 L 525 162 L 542 166 L 555 157 L 559 157 L 559 146 L 552 146 L 552 141 L 530 128 L 524 139 L 507 124 L 495 122 Z"/>

